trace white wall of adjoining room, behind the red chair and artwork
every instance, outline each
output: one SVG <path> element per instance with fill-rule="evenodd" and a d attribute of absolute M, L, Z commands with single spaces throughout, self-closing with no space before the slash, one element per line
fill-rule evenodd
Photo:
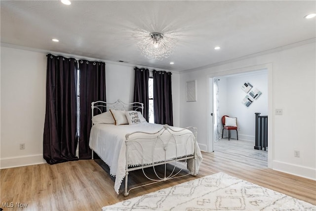
<path fill-rule="evenodd" d="M 234 74 L 227 77 L 219 77 L 219 105 L 220 114 L 237 117 L 238 138 L 241 140 L 255 141 L 255 113 L 261 116 L 268 115 L 268 72 L 254 71 L 247 74 Z M 261 95 L 246 107 L 242 99 L 248 95 L 241 89 L 242 84 L 249 82 L 253 88 L 261 91 Z M 221 101 L 223 100 L 223 102 Z M 220 123 L 221 124 L 221 123 Z M 224 137 L 227 137 L 224 130 Z M 236 132 L 231 132 L 232 138 L 236 138 Z"/>

